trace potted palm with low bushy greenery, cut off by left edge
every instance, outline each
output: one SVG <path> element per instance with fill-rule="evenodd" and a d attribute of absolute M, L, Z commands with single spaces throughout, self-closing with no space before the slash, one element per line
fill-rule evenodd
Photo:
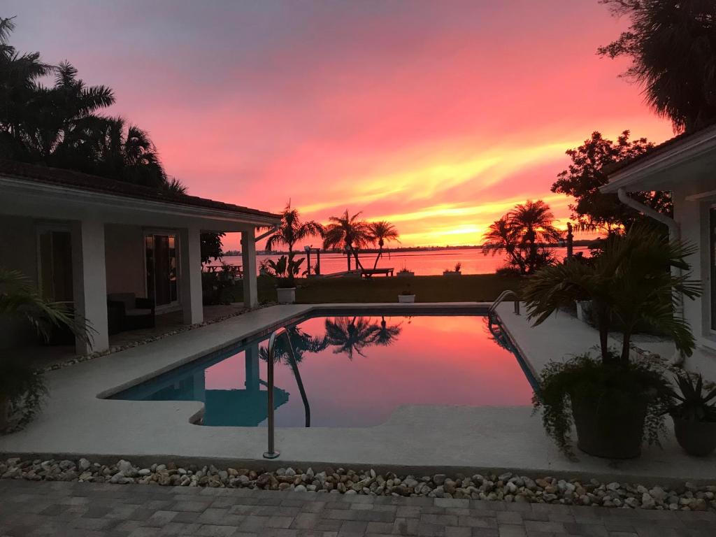
<path fill-rule="evenodd" d="M 43 299 L 26 276 L 1 267 L 0 319 L 24 319 L 45 341 L 57 328 L 91 339 L 91 327 L 74 316 L 69 304 Z M 0 432 L 32 420 L 46 394 L 42 372 L 20 357 L 0 358 Z"/>

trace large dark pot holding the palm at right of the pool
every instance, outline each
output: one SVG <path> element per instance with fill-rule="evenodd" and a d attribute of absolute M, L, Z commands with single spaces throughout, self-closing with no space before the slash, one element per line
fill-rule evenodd
<path fill-rule="evenodd" d="M 606 396 L 604 401 L 611 398 Z M 599 405 L 592 397 L 571 396 L 577 430 L 577 446 L 595 457 L 632 459 L 642 454 L 646 397 L 634 397 L 628 405 Z"/>

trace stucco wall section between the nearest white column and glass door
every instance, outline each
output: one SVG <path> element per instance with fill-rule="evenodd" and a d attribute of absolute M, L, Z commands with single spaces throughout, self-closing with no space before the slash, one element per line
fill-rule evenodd
<path fill-rule="evenodd" d="M 140 226 L 105 226 L 107 293 L 146 296 L 144 233 Z"/>

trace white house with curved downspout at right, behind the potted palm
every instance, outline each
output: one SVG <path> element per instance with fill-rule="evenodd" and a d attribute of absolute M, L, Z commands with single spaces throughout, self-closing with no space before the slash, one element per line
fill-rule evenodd
<path fill-rule="evenodd" d="M 669 190 L 674 218 L 644 207 L 629 192 Z M 679 135 L 622 165 L 601 188 L 617 193 L 622 203 L 669 226 L 672 237 L 697 246 L 687 261 L 693 276 L 703 282 L 700 299 L 684 300 L 684 319 L 697 340 L 697 352 L 687 362 L 713 376 L 716 372 L 716 125 Z"/>

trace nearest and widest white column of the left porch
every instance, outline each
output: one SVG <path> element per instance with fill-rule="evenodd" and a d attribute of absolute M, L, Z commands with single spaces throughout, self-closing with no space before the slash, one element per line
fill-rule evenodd
<path fill-rule="evenodd" d="M 72 287 L 74 310 L 92 327 L 91 339 L 77 339 L 77 354 L 105 351 L 110 347 L 107 327 L 107 269 L 105 224 L 87 219 L 72 226 Z"/>

